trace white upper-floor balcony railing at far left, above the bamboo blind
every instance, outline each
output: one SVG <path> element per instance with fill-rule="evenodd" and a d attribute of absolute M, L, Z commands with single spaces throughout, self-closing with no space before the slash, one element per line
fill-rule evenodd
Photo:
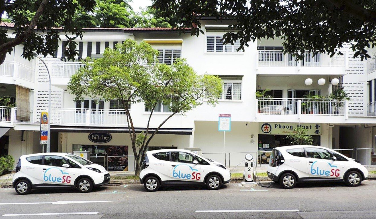
<path fill-rule="evenodd" d="M 14 77 L 15 80 L 18 78 L 34 82 L 35 71 L 33 68 L 18 62 L 4 61 L 4 63 L 0 65 L 0 76 Z"/>

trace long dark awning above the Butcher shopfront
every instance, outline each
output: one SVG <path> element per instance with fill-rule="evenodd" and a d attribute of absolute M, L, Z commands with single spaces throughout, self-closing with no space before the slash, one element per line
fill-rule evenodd
<path fill-rule="evenodd" d="M 135 128 L 136 133 L 146 131 L 146 128 Z M 156 128 L 149 128 L 149 133 L 155 131 Z M 51 126 L 52 132 L 80 132 L 80 133 L 92 133 L 92 132 L 105 132 L 105 133 L 129 133 L 128 128 L 124 127 L 86 127 L 86 126 Z M 160 128 L 157 134 L 192 134 L 193 128 Z"/>

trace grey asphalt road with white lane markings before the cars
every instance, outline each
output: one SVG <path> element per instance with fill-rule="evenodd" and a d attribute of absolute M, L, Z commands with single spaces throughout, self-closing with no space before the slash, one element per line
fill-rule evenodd
<path fill-rule="evenodd" d="M 359 187 L 302 184 L 294 189 L 167 187 L 146 192 L 142 185 L 76 190 L 33 190 L 17 195 L 0 188 L 0 216 L 6 218 L 375 218 L 376 181 Z M 42 214 L 42 215 L 32 215 Z M 8 216 L 9 215 L 9 216 Z"/>

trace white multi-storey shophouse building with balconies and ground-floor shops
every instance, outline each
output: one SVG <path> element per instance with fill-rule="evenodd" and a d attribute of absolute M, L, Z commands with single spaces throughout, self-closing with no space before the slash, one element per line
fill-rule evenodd
<path fill-rule="evenodd" d="M 82 66 L 81 58 L 99 58 L 106 47 L 130 38 L 149 42 L 160 51 L 161 62 L 183 57 L 198 74 L 217 75 L 223 80 L 224 92 L 217 106 L 203 104 L 186 116 L 173 116 L 153 138 L 149 150 L 201 148 L 204 156 L 226 166 L 237 165 L 250 152 L 258 154 L 258 164 L 262 165 L 268 162 L 268 151 L 290 143 L 286 136 L 292 128 L 304 125 L 314 136 L 315 145 L 340 150 L 363 164 L 376 162 L 372 155 L 376 135 L 374 58 L 353 59 L 354 52 L 345 46 L 344 56 L 312 57 L 307 53 L 304 60 L 296 62 L 281 53 L 279 39 L 249 42 L 245 51 L 236 51 L 237 45 L 221 43 L 224 24 L 203 20 L 205 35 L 199 37 L 179 35 L 168 28 L 85 29 L 83 38 L 77 39 L 79 56 L 74 62 L 65 59 L 65 42 L 59 42 L 55 56 L 43 58 L 53 85 L 51 151 L 71 153 L 82 148 L 91 152 L 92 161 L 110 170 L 114 166 L 133 170 L 126 117 L 118 110 L 117 100 L 76 103 L 67 91 L 70 77 Z M 12 32 L 9 28 L 9 34 Z M 11 97 L 15 103 L 15 107 L 0 107 L 0 153 L 15 159 L 42 151 L 39 120 L 40 112 L 47 111 L 49 90 L 43 63 L 38 59 L 29 62 L 21 54 L 22 46 L 16 46 L 0 66 L 0 97 Z M 302 99 L 309 94 L 329 95 L 335 89 L 331 81 L 336 78 L 350 101 Z M 312 79 L 312 84 L 306 85 L 306 79 Z M 318 84 L 319 79 L 324 79 L 323 85 Z M 267 95 L 271 98 L 256 98 L 256 91 L 264 89 L 270 89 Z M 130 111 L 135 127 L 143 130 L 149 116 L 144 104 L 132 104 Z M 157 127 L 170 114 L 162 104 L 156 111 L 150 127 Z M 231 131 L 226 132 L 225 139 L 218 131 L 219 114 L 231 115 Z M 89 139 L 90 133 L 108 133 L 111 140 L 95 143 Z"/>

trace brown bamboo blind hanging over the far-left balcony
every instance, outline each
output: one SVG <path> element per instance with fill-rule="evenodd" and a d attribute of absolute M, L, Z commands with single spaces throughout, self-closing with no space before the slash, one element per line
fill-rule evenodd
<path fill-rule="evenodd" d="M 16 85 L 16 119 L 30 121 L 29 89 Z"/>

